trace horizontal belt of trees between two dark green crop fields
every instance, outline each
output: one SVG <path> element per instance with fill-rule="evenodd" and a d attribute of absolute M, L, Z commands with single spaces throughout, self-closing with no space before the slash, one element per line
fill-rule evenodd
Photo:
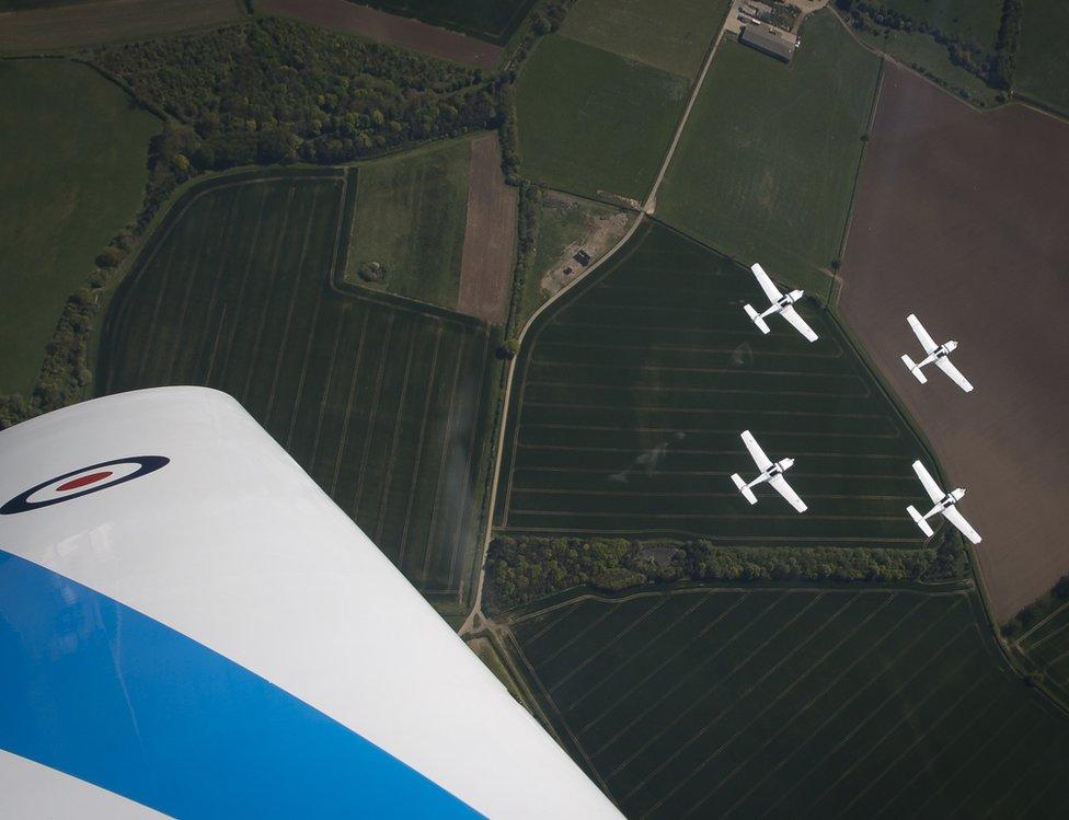
<path fill-rule="evenodd" d="M 573 587 L 620 591 L 693 581 L 940 581 L 964 577 L 956 533 L 934 550 L 735 547 L 710 541 L 499 536 L 486 556 L 487 604 L 505 610 Z"/>

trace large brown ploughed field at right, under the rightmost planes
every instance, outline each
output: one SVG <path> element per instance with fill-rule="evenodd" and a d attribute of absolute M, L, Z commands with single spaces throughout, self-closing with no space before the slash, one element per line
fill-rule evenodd
<path fill-rule="evenodd" d="M 968 489 L 1000 620 L 1069 571 L 1067 227 L 1069 126 L 1021 106 L 981 114 L 887 67 L 839 308 Z M 923 356 L 910 312 L 961 342 L 975 392 L 909 376 L 899 356 Z"/>

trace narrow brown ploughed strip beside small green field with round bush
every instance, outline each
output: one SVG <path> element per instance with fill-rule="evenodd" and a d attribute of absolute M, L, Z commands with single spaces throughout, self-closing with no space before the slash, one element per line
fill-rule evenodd
<path fill-rule="evenodd" d="M 457 310 L 493 324 L 505 320 L 515 250 L 516 189 L 505 185 L 502 176 L 497 137 L 475 137 L 468 171 L 468 222 Z"/>

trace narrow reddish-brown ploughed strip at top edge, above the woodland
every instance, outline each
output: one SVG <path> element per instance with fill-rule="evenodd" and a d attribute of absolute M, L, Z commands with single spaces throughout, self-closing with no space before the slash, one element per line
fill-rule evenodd
<path fill-rule="evenodd" d="M 501 48 L 474 37 L 465 37 L 418 20 L 387 14 L 384 11 L 346 0 L 261 0 L 257 4 L 275 14 L 286 14 L 329 28 L 361 34 L 382 43 L 456 60 L 465 66 L 492 68 L 501 55 Z"/>

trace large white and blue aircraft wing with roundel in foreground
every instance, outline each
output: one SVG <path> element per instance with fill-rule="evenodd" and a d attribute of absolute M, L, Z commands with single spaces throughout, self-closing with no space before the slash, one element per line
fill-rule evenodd
<path fill-rule="evenodd" d="M 215 390 L 0 430 L 0 680 L 3 818 L 622 820 Z"/>

